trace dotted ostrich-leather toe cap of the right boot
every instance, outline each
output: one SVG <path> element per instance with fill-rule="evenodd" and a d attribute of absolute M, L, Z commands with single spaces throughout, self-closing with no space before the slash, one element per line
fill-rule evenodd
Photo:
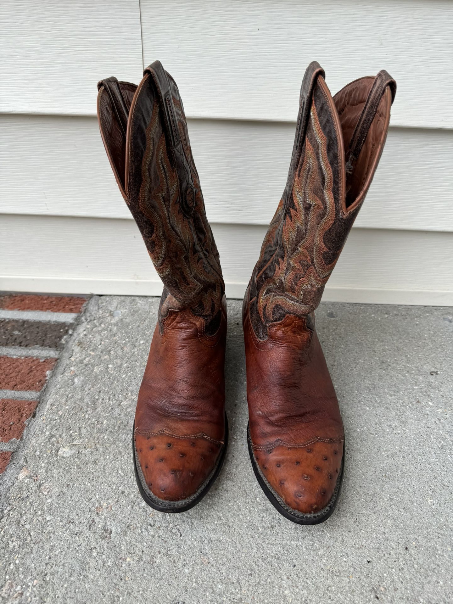
<path fill-rule="evenodd" d="M 318 513 L 332 500 L 341 473 L 342 443 L 315 442 L 303 448 L 277 446 L 254 451 L 260 472 L 284 504 Z"/>

